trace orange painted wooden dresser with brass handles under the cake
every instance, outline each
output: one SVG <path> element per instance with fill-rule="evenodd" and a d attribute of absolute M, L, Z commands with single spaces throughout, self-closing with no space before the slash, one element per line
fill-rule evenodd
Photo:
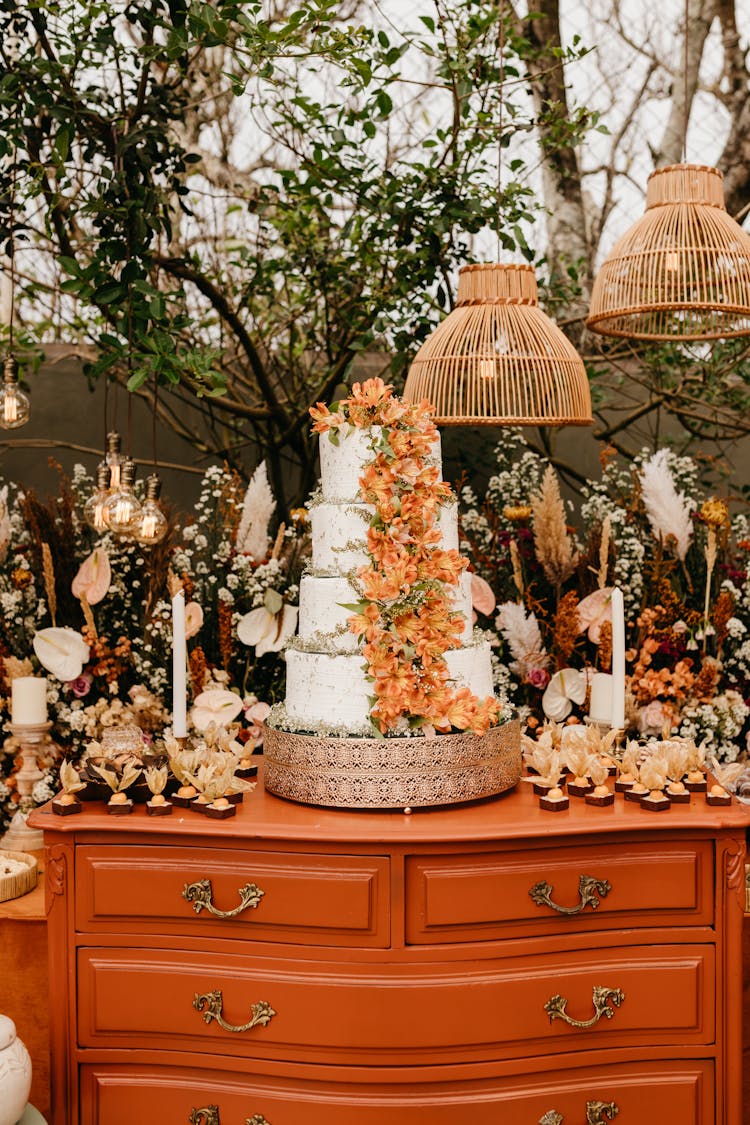
<path fill-rule="evenodd" d="M 748 810 L 45 830 L 53 1125 L 740 1125 Z"/>

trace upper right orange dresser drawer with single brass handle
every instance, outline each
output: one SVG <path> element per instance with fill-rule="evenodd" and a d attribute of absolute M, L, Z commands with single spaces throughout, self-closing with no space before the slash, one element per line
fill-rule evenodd
<path fill-rule="evenodd" d="M 414 855 L 406 863 L 406 939 L 707 926 L 713 878 L 713 847 L 696 840 Z"/>

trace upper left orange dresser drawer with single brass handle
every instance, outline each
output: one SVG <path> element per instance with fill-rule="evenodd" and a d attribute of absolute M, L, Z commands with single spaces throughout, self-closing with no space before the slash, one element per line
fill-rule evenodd
<path fill-rule="evenodd" d="M 382 856 L 88 845 L 76 928 L 383 947 L 388 875 Z"/>

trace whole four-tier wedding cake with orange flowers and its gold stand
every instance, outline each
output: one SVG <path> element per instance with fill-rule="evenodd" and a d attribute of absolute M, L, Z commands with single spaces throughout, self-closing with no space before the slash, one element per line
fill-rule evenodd
<path fill-rule="evenodd" d="M 313 560 L 264 737 L 265 788 L 338 808 L 452 804 L 521 773 L 475 639 L 458 511 L 430 410 L 355 384 L 320 433 Z"/>

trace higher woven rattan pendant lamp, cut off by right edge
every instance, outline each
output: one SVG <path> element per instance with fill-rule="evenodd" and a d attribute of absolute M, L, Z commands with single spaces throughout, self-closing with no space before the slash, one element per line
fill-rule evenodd
<path fill-rule="evenodd" d="M 632 340 L 750 334 L 750 235 L 726 213 L 722 181 L 704 164 L 651 173 L 645 214 L 594 284 L 589 328 Z"/>

